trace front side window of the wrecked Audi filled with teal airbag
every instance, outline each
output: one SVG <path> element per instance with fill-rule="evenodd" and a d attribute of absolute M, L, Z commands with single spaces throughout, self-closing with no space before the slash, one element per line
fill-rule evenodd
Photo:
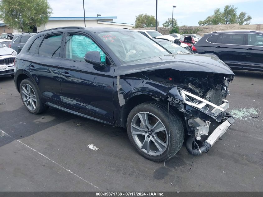
<path fill-rule="evenodd" d="M 88 51 L 99 51 L 101 63 L 106 63 L 106 55 L 90 38 L 85 35 L 68 34 L 66 58 L 85 61 L 84 56 Z"/>

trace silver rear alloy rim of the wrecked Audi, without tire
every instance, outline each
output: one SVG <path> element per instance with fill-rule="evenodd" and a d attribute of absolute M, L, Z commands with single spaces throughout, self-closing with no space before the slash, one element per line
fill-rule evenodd
<path fill-rule="evenodd" d="M 33 88 L 29 84 L 25 83 L 22 86 L 21 94 L 26 107 L 29 110 L 34 111 L 37 105 L 37 100 Z"/>

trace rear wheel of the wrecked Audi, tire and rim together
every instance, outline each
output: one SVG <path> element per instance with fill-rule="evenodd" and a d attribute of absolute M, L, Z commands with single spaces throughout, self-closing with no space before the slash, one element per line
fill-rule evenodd
<path fill-rule="evenodd" d="M 40 92 L 31 79 L 24 79 L 20 84 L 20 96 L 26 109 L 39 114 L 47 109 L 40 99 Z"/>

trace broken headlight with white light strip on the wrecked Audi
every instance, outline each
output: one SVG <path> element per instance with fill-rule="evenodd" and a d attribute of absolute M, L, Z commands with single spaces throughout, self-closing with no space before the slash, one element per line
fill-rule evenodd
<path fill-rule="evenodd" d="M 185 90 L 180 89 L 180 94 L 181 94 L 181 96 L 183 98 L 183 101 L 187 105 L 194 106 L 194 107 L 200 109 L 200 108 L 202 108 L 202 107 L 204 107 L 204 106 L 206 106 L 208 104 L 208 105 L 213 106 L 213 107 L 215 107 L 215 108 L 217 108 L 217 109 L 219 109 L 221 111 L 224 111 L 223 108 L 221 108 L 221 107 L 219 107 L 219 106 L 217 106 L 217 105 L 215 105 L 215 104 L 213 104 L 213 103 L 211 103 L 209 101 L 206 101 L 206 100 L 200 98 L 199 96 L 196 96 L 196 95 L 194 95 L 194 94 L 192 94 L 190 92 L 187 92 Z"/>

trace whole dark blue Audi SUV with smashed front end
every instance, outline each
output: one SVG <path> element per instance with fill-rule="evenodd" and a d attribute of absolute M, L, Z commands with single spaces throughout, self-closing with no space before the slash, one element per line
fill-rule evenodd
<path fill-rule="evenodd" d="M 15 85 L 28 111 L 51 106 L 126 128 L 134 148 L 155 162 L 174 156 L 185 138 L 191 155 L 209 151 L 234 122 L 227 112 L 233 78 L 215 55 L 171 54 L 117 28 L 45 30 L 15 60 Z"/>

